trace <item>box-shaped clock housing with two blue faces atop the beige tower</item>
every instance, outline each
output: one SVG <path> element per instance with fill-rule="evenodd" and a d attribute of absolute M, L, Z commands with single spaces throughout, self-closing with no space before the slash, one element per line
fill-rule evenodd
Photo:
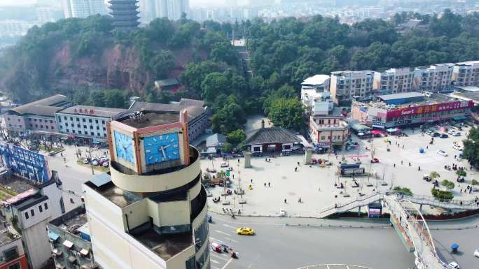
<path fill-rule="evenodd" d="M 188 114 L 131 112 L 107 124 L 111 161 L 123 173 L 144 175 L 188 166 Z"/>

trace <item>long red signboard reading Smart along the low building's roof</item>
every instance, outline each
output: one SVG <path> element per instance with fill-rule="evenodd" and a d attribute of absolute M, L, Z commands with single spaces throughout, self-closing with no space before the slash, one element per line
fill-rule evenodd
<path fill-rule="evenodd" d="M 413 106 L 410 108 L 399 108 L 395 110 L 389 110 L 386 113 L 387 118 L 391 117 L 406 117 L 417 114 L 442 112 L 449 110 L 458 110 L 472 108 L 474 106 L 473 101 L 454 101 L 448 103 L 436 103 L 433 105 Z"/>

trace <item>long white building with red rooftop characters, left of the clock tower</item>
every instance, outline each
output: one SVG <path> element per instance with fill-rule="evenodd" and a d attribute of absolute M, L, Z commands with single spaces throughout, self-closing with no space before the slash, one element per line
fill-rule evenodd
<path fill-rule="evenodd" d="M 106 122 L 125 111 L 121 108 L 71 106 L 56 113 L 57 130 L 70 136 L 106 141 Z"/>

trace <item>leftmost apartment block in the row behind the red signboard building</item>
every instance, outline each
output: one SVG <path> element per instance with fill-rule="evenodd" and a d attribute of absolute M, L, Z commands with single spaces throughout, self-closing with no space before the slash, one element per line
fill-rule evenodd
<path fill-rule="evenodd" d="M 373 94 L 373 71 L 338 71 L 331 73 L 330 92 L 335 104 L 351 103 L 354 97 Z"/>

